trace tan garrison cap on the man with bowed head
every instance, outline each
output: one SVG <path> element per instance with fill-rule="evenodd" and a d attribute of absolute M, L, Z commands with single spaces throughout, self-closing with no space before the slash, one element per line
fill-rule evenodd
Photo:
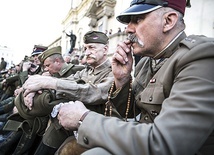
<path fill-rule="evenodd" d="M 41 53 L 38 56 L 38 59 L 40 60 L 41 63 L 44 63 L 45 59 L 47 59 L 49 56 L 51 56 L 53 54 L 62 54 L 61 46 L 57 46 L 57 47 L 47 49 L 46 51 L 44 51 L 43 53 Z"/>

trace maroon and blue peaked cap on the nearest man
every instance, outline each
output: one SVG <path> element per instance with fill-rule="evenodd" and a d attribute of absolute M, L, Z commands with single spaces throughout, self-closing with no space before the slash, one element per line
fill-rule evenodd
<path fill-rule="evenodd" d="M 130 7 L 116 18 L 119 22 L 128 24 L 131 16 L 149 13 L 161 7 L 173 8 L 184 15 L 186 6 L 191 6 L 190 0 L 133 0 Z"/>

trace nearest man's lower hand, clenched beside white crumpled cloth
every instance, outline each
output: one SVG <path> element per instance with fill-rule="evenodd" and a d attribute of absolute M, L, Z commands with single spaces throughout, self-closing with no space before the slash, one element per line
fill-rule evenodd
<path fill-rule="evenodd" d="M 78 122 L 86 111 L 89 110 L 82 102 L 70 101 L 60 107 L 57 118 L 66 130 L 77 130 Z"/>

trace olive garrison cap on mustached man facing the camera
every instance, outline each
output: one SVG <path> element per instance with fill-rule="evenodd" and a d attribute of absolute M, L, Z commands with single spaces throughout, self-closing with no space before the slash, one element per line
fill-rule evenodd
<path fill-rule="evenodd" d="M 108 44 L 108 36 L 100 31 L 89 31 L 84 37 L 83 41 L 85 44 L 89 43 L 100 43 L 100 44 Z"/>

